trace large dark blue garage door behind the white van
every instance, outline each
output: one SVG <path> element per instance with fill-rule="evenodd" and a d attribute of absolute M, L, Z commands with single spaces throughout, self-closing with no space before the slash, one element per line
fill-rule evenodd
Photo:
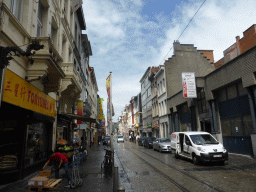
<path fill-rule="evenodd" d="M 252 116 L 248 92 L 242 82 L 217 92 L 223 144 L 229 152 L 252 155 Z"/>

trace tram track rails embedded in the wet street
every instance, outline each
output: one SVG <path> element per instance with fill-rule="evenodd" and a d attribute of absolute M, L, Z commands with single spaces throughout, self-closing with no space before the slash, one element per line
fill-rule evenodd
<path fill-rule="evenodd" d="M 179 188 L 181 191 L 184 191 L 184 192 L 189 192 L 189 190 L 187 188 L 185 188 L 184 186 L 182 186 L 181 184 L 179 184 L 177 181 L 175 181 L 174 179 L 172 179 L 171 177 L 169 177 L 168 175 L 166 175 L 165 173 L 163 173 L 161 170 L 159 170 L 158 168 L 156 168 L 154 165 L 152 165 L 151 163 L 149 163 L 148 161 L 146 161 L 145 159 L 143 159 L 142 157 L 140 157 L 139 155 L 137 155 L 135 152 L 133 152 L 132 150 L 130 150 L 129 148 L 126 148 L 127 150 L 129 150 L 132 154 L 134 154 L 136 157 L 138 157 L 139 159 L 141 159 L 143 162 L 145 162 L 148 166 L 150 166 L 154 171 L 156 171 L 157 173 L 159 173 L 161 176 L 163 176 L 164 178 L 166 178 L 167 180 L 169 180 L 172 184 L 174 184 L 177 188 Z M 139 149 L 136 149 L 136 148 L 133 148 L 133 150 L 137 150 L 139 151 L 140 153 L 143 153 L 149 157 L 151 157 L 152 159 L 155 159 L 157 160 L 158 162 L 161 162 L 162 164 L 168 166 L 169 168 L 171 169 L 174 169 L 175 171 L 179 172 L 179 173 L 182 173 L 183 175 L 203 184 L 203 185 L 206 185 L 207 187 L 215 190 L 215 191 L 218 191 L 218 192 L 224 192 L 223 190 L 219 189 L 218 187 L 216 186 L 213 186 L 203 180 L 200 180 L 198 178 L 196 178 L 195 176 L 189 174 L 187 171 L 183 171 L 183 170 L 180 170 L 172 165 L 169 165 L 169 164 L 166 164 L 165 162 L 157 159 L 156 157 L 152 156 L 152 155 L 149 155 L 148 153 L 145 153 L 143 152 L 142 150 L 139 150 Z"/>

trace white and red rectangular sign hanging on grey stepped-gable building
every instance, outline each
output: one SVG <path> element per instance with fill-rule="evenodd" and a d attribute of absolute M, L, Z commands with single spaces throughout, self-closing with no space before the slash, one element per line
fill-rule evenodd
<path fill-rule="evenodd" d="M 182 89 L 184 98 L 196 98 L 195 73 L 182 73 Z"/>

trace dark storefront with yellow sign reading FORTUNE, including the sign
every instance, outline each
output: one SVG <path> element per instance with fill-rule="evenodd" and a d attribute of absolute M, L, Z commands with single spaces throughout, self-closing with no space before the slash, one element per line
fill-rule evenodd
<path fill-rule="evenodd" d="M 1 184 L 42 168 L 52 146 L 55 100 L 6 69 L 0 108 Z"/>

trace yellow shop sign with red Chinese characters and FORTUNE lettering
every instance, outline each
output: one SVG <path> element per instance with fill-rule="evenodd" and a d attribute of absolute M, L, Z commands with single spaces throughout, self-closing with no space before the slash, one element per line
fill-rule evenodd
<path fill-rule="evenodd" d="M 54 117 L 55 100 L 6 69 L 3 101 Z"/>

